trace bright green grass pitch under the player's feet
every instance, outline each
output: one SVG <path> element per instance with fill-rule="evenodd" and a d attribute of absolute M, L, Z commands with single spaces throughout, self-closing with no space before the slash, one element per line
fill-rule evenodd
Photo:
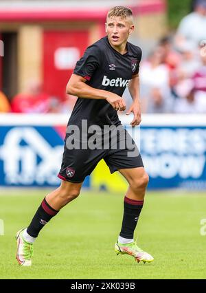
<path fill-rule="evenodd" d="M 41 231 L 32 267 L 18 265 L 14 235 L 36 212 L 45 190 L 0 191 L 0 279 L 205 279 L 206 194 L 148 192 L 135 231 L 137 243 L 155 257 L 137 263 L 116 255 L 124 195 L 82 191 Z M 206 229 L 205 229 L 206 230 Z"/>

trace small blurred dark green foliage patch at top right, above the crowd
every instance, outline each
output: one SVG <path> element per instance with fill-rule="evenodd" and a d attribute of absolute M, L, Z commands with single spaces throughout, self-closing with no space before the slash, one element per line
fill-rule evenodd
<path fill-rule="evenodd" d="M 185 15 L 191 12 L 192 0 L 168 0 L 168 22 L 170 29 L 176 29 Z"/>

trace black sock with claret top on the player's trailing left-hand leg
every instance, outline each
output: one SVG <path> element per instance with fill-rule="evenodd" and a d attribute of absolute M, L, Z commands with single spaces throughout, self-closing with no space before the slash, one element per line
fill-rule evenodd
<path fill-rule="evenodd" d="M 49 206 L 46 199 L 43 199 L 41 206 L 38 207 L 36 214 L 34 215 L 30 226 L 27 228 L 27 233 L 32 237 L 37 237 L 40 230 L 48 223 L 52 217 L 58 213 L 58 210 L 54 210 L 52 206 Z"/>

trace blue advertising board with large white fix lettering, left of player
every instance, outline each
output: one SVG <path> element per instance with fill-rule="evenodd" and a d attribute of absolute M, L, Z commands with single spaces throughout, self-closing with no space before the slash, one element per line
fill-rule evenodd
<path fill-rule="evenodd" d="M 63 152 L 59 129 L 51 126 L 0 127 L 0 185 L 57 186 Z M 84 187 L 89 187 L 89 177 Z"/>

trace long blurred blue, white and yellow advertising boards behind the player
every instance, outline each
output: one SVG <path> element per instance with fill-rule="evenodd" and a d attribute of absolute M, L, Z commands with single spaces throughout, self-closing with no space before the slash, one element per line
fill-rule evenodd
<path fill-rule="evenodd" d="M 0 186 L 58 186 L 69 116 L 1 114 Z M 191 115 L 143 115 L 141 127 L 128 127 L 150 175 L 148 188 L 206 189 L 206 118 Z M 102 160 L 84 187 L 126 190 L 118 172 L 110 175 Z"/>

